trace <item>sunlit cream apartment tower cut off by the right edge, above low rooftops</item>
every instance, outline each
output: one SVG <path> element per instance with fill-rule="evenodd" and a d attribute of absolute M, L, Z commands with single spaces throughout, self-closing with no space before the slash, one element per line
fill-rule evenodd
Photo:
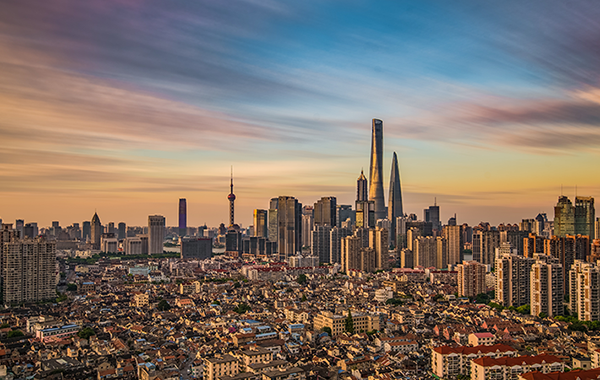
<path fill-rule="evenodd" d="M 575 260 L 569 271 L 569 309 L 581 321 L 600 320 L 600 267 Z"/>

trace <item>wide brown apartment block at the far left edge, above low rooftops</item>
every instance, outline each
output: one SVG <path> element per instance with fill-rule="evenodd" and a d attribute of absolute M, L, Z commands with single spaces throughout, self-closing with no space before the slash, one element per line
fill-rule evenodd
<path fill-rule="evenodd" d="M 44 238 L 5 243 L 2 250 L 5 305 L 56 297 L 56 243 Z"/>

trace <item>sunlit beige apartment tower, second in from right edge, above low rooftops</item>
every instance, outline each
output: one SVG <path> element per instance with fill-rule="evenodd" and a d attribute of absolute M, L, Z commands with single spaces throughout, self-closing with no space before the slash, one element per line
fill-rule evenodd
<path fill-rule="evenodd" d="M 564 314 L 563 268 L 558 259 L 536 255 L 530 273 L 531 315 L 544 313 L 550 317 Z"/>

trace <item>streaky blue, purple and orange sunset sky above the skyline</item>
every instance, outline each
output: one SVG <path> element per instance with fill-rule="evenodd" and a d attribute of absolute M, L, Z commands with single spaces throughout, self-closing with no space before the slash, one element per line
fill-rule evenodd
<path fill-rule="evenodd" d="M 594 0 L 2 0 L 0 218 L 236 221 L 353 204 L 384 121 L 404 210 L 553 217 L 600 196 Z M 368 176 L 368 175 L 367 175 Z"/>

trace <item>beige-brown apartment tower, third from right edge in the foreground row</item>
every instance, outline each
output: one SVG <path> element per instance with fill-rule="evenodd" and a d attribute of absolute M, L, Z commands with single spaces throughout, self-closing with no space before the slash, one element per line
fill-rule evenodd
<path fill-rule="evenodd" d="M 505 307 L 529 304 L 531 267 L 535 260 L 515 254 L 510 243 L 502 243 L 496 258 L 496 302 Z"/>

